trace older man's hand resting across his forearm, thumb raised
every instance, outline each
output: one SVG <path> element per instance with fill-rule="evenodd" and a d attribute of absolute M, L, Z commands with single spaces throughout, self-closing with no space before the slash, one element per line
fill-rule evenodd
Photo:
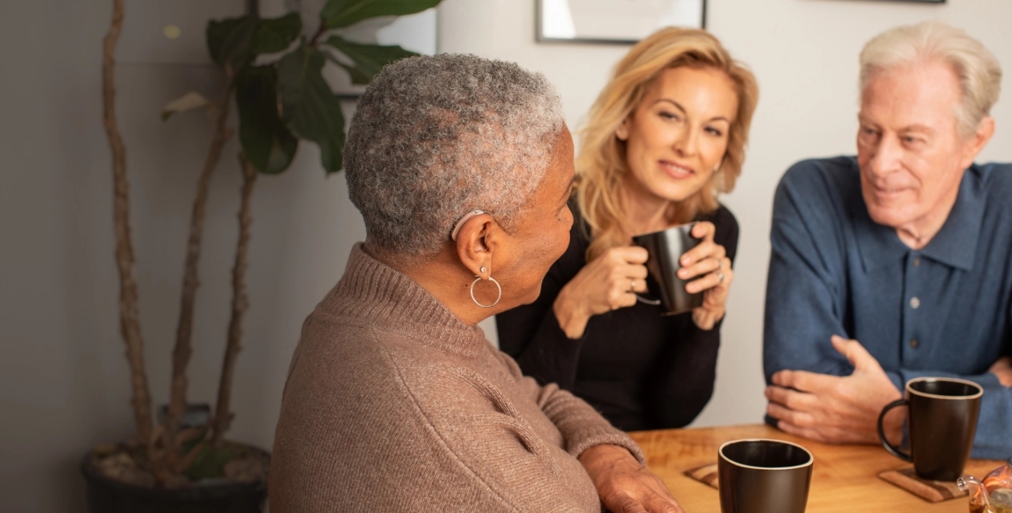
<path fill-rule="evenodd" d="M 878 443 L 878 414 L 903 396 L 878 360 L 856 340 L 834 335 L 833 347 L 846 356 L 854 372 L 846 377 L 781 370 L 766 388 L 766 413 L 787 433 L 829 443 Z M 886 436 L 903 440 L 906 410 L 886 416 Z"/>

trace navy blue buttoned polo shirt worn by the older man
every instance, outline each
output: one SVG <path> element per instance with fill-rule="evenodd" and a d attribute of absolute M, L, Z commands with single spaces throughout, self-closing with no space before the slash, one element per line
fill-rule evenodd
<path fill-rule="evenodd" d="M 831 335 L 858 340 L 898 390 L 919 376 L 984 387 L 975 457 L 1012 456 L 1012 391 L 988 368 L 1010 353 L 1012 165 L 968 168 L 955 204 L 919 251 L 875 224 L 857 161 L 803 161 L 773 201 L 763 363 L 848 375 Z"/>

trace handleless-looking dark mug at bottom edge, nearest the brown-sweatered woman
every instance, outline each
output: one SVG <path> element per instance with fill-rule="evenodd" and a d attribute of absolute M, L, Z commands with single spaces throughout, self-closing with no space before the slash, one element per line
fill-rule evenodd
<path fill-rule="evenodd" d="M 815 458 L 782 440 L 734 440 L 718 449 L 723 513 L 805 513 Z"/>

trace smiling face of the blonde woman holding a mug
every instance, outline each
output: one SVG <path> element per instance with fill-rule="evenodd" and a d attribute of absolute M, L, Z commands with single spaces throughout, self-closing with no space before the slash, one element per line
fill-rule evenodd
<path fill-rule="evenodd" d="M 721 165 L 737 111 L 738 94 L 724 72 L 663 71 L 615 133 L 626 142 L 626 185 L 667 201 L 693 196 Z"/>

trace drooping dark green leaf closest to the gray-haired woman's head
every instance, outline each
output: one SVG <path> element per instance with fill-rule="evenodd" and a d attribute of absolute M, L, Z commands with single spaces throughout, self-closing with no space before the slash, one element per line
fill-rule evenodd
<path fill-rule="evenodd" d="M 319 145 L 324 169 L 334 173 L 344 165 L 344 115 L 320 74 L 325 60 L 323 52 L 301 45 L 277 63 L 277 84 L 288 127 Z"/>

